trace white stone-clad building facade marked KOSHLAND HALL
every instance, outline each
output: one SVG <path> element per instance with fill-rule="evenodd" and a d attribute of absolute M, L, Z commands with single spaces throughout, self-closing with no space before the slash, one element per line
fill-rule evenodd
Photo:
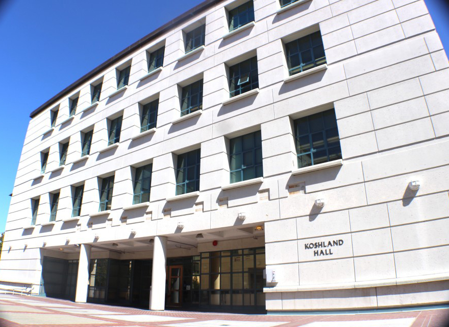
<path fill-rule="evenodd" d="M 2 288 L 164 310 L 449 299 L 422 0 L 208 0 L 31 114 Z"/>

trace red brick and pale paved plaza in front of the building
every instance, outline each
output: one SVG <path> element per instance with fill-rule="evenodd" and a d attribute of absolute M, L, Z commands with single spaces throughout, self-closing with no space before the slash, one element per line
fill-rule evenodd
<path fill-rule="evenodd" d="M 133 308 L 0 294 L 0 326 L 445 327 L 449 309 L 339 315 L 240 315 Z"/>

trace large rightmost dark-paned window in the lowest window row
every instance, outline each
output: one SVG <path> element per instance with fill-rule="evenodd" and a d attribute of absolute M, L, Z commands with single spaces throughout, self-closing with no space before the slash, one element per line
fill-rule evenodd
<path fill-rule="evenodd" d="M 341 159 L 334 109 L 297 119 L 294 129 L 298 168 Z"/>

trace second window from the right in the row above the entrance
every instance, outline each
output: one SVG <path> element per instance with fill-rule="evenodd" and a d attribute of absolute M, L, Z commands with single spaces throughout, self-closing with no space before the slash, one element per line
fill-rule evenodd
<path fill-rule="evenodd" d="M 263 176 L 260 131 L 230 139 L 231 183 Z"/>

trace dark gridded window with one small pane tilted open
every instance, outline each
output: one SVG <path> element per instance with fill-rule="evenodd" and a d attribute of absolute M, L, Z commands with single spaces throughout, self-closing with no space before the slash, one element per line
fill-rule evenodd
<path fill-rule="evenodd" d="M 231 98 L 258 87 L 257 57 L 229 67 L 229 91 Z"/>

